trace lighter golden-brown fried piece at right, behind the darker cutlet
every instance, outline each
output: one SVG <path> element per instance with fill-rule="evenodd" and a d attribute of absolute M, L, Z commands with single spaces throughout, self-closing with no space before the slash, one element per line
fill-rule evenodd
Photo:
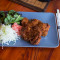
<path fill-rule="evenodd" d="M 33 19 L 34 21 L 37 21 L 37 19 Z M 48 23 L 42 23 L 40 20 L 38 20 L 37 26 L 40 28 L 42 32 L 42 36 L 46 36 L 48 34 L 50 25 Z"/>

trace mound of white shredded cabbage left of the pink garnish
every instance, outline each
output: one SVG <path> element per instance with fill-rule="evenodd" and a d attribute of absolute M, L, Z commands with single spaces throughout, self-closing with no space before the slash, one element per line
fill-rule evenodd
<path fill-rule="evenodd" d="M 0 26 L 0 41 L 2 44 L 7 44 L 11 41 L 16 42 L 18 38 L 17 33 L 11 28 L 11 25 L 1 25 Z"/>

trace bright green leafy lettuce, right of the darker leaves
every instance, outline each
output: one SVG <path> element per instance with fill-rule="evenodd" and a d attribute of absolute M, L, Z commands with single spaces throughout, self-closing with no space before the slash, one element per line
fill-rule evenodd
<path fill-rule="evenodd" d="M 11 24 L 16 22 L 17 24 L 20 24 L 20 20 L 22 19 L 23 17 L 21 17 L 21 15 L 19 15 L 16 11 L 10 10 L 4 19 L 4 23 Z"/>

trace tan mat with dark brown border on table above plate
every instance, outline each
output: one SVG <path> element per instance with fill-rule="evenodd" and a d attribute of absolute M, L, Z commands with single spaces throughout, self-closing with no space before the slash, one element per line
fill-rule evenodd
<path fill-rule="evenodd" d="M 41 2 L 39 0 L 10 0 L 35 11 L 45 11 L 49 2 Z"/>

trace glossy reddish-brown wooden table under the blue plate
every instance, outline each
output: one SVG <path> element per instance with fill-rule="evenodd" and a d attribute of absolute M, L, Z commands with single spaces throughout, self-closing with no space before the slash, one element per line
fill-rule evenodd
<path fill-rule="evenodd" d="M 10 2 L 8 0 L 0 0 L 0 11 L 8 10 L 29 11 L 33 10 Z M 54 0 L 49 3 L 46 12 L 56 13 L 56 9 L 60 9 L 60 1 Z M 0 60 L 60 60 L 60 46 L 57 48 L 16 48 L 0 47 Z"/>

